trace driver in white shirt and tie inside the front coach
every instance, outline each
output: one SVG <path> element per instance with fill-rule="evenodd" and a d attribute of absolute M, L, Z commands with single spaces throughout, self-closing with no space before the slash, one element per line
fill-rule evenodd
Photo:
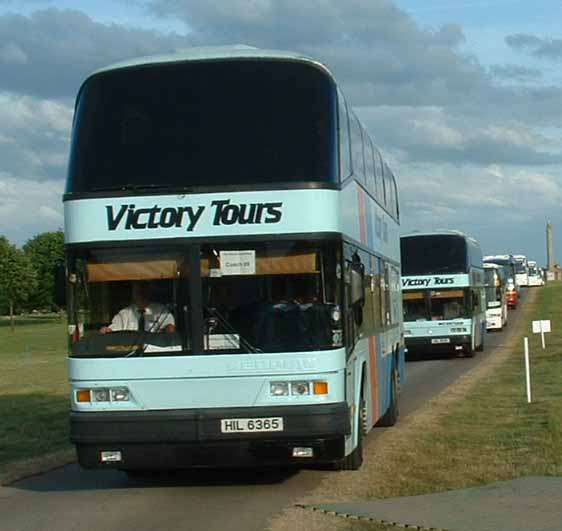
<path fill-rule="evenodd" d="M 176 323 L 170 310 L 159 302 L 150 302 L 148 282 L 133 282 L 132 303 L 113 317 L 109 326 L 102 326 L 100 334 L 123 330 L 144 332 L 175 332 Z"/>

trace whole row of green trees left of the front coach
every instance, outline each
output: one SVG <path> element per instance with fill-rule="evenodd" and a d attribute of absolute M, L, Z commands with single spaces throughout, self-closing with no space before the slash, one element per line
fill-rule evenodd
<path fill-rule="evenodd" d="M 43 232 L 20 249 L 0 236 L 0 315 L 57 311 L 55 269 L 64 263 L 62 231 Z"/>

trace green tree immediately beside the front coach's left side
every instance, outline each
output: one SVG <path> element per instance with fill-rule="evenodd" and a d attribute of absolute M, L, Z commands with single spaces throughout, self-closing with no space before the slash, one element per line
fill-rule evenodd
<path fill-rule="evenodd" d="M 23 246 L 37 272 L 37 289 L 28 300 L 30 309 L 55 310 L 55 267 L 64 263 L 62 231 L 43 232 Z"/>

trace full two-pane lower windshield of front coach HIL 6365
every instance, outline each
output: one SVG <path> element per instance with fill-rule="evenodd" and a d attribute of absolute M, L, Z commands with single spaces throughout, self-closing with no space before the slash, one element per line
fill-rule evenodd
<path fill-rule="evenodd" d="M 73 357 L 341 348 L 335 242 L 238 242 L 71 252 Z"/>

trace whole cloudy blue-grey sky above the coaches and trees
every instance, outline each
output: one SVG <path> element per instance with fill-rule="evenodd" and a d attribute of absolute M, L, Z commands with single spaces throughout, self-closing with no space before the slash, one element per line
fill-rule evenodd
<path fill-rule="evenodd" d="M 562 262 L 559 0 L 0 0 L 0 234 L 63 225 L 73 104 L 93 70 L 244 43 L 324 62 L 389 160 L 402 232 Z"/>

